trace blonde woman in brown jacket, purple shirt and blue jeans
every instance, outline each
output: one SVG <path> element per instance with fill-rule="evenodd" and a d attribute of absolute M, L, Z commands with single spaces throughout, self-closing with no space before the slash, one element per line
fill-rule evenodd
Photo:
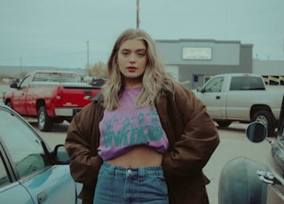
<path fill-rule="evenodd" d="M 118 37 L 93 100 L 65 143 L 83 203 L 209 203 L 202 168 L 219 143 L 216 126 L 164 71 L 145 31 Z"/>

